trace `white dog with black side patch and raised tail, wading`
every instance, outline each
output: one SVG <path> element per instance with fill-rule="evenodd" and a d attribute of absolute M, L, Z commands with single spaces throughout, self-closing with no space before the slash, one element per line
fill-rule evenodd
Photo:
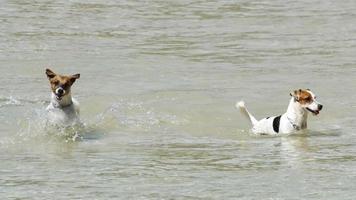
<path fill-rule="evenodd" d="M 318 115 L 323 105 L 309 89 L 299 89 L 290 93 L 287 112 L 274 117 L 266 117 L 261 120 L 247 110 L 243 101 L 237 102 L 236 107 L 251 121 L 254 134 L 289 134 L 307 128 L 308 113 Z"/>

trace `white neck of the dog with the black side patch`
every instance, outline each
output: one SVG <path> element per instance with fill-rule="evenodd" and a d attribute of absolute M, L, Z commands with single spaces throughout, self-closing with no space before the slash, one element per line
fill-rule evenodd
<path fill-rule="evenodd" d="M 286 116 L 293 126 L 298 128 L 306 128 L 308 111 L 305 110 L 298 102 L 296 102 L 294 97 L 292 97 L 289 102 Z"/>

